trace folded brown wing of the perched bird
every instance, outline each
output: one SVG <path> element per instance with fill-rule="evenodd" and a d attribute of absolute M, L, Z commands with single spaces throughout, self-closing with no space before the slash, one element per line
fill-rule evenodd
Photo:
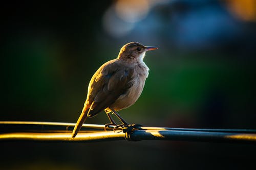
<path fill-rule="evenodd" d="M 88 116 L 92 117 L 112 105 L 121 94 L 131 87 L 133 69 L 111 60 L 103 64 L 94 74 L 88 89 Z"/>

